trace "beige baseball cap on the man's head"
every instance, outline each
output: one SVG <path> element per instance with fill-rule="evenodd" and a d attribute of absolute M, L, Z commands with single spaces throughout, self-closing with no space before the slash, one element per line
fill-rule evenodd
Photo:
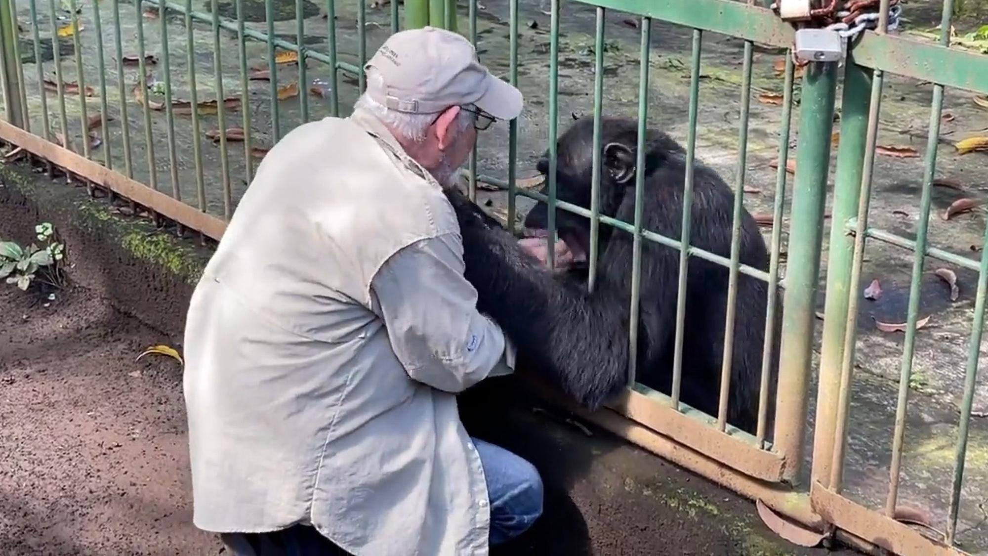
<path fill-rule="evenodd" d="M 371 67 L 383 82 L 369 80 L 367 92 L 390 110 L 436 114 L 473 104 L 498 120 L 512 120 L 522 113 L 521 91 L 491 75 L 477 61 L 473 45 L 445 29 L 395 33 L 364 69 Z"/>

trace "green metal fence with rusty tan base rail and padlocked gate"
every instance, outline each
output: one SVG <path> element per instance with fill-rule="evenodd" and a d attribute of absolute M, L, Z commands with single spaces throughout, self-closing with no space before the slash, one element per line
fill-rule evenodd
<path fill-rule="evenodd" d="M 40 4 L 41 0 L 20 0 L 20 6 L 17 0 L 0 0 L 3 40 L 0 73 L 5 117 L 5 122 L 0 123 L 0 138 L 40 159 L 52 174 L 61 171 L 70 182 L 86 184 L 91 195 L 106 191 L 111 201 L 129 200 L 134 216 L 146 212 L 163 228 L 213 239 L 222 233 L 223 222 L 230 218 L 237 199 L 250 183 L 255 164 L 272 144 L 299 124 L 348 112 L 364 88 L 360 68 L 388 33 L 401 27 L 402 10 L 404 27 L 431 24 L 461 29 L 465 23 L 465 35 L 478 45 L 481 59 L 504 57 L 503 53 L 487 52 L 484 48 L 505 46 L 503 38 L 496 36 L 499 28 L 490 22 L 507 18 L 508 53 L 502 70 L 523 91 L 533 90 L 533 79 L 545 75 L 536 70 L 535 75 L 526 75 L 530 80 L 522 79 L 520 43 L 524 38 L 535 42 L 537 48 L 542 46 L 539 41 L 547 40 L 547 48 L 542 52 L 547 57 L 548 76 L 545 137 L 535 141 L 537 134 L 524 135 L 522 126 L 537 127 L 540 132 L 543 124 L 523 119 L 510 122 L 505 136 L 485 138 L 486 142 L 474 150 L 466 171 L 470 197 L 477 199 L 479 190 L 485 191 L 484 195 L 489 195 L 490 190 L 506 191 L 507 208 L 502 216 L 512 229 L 517 224 L 521 199 L 547 201 L 562 210 L 589 217 L 591 289 L 595 287 L 600 257 L 600 226 L 633 235 L 629 327 L 632 377 L 636 370 L 635 338 L 639 330 L 642 241 L 657 242 L 680 252 L 672 392 L 666 396 L 632 380 L 625 395 L 609 410 L 590 418 L 811 528 L 826 532 L 836 529 L 846 540 L 872 543 L 902 554 L 960 553 L 955 540 L 965 446 L 976 389 L 988 257 L 974 260 L 929 246 L 928 226 L 945 87 L 988 92 L 988 56 L 950 49 L 947 34 L 942 35 L 937 45 L 889 35 L 884 31 L 888 0 L 882 0 L 878 6 L 878 13 L 883 14 L 879 28 L 864 32 L 860 41 L 849 47 L 850 57 L 843 69 L 834 62 L 811 62 L 797 68 L 789 49 L 793 28 L 753 2 L 730 0 L 694 0 L 688 5 L 664 0 L 579 0 L 567 3 L 565 9 L 560 7 L 559 0 L 550 0 L 548 10 L 543 12 L 549 18 L 548 37 L 539 35 L 542 32 L 535 26 L 535 20 L 523 28 L 523 18 L 537 15 L 540 10 L 529 3 L 520 4 L 519 0 L 510 0 L 506 7 L 496 7 L 493 3 L 485 6 L 477 0 L 468 0 L 465 5 L 456 5 L 452 0 L 407 0 L 403 9 L 395 0 L 385 3 L 386 7 L 334 0 L 321 5 L 308 0 L 234 0 L 232 3 L 208 0 L 198 7 L 191 0 L 182 3 L 63 0 L 58 5 L 48 0 L 45 5 Z M 952 2 L 947 0 L 943 6 L 942 29 L 951 27 L 951 8 Z M 492 15 L 495 9 L 507 13 Z M 683 212 L 683 233 L 678 239 L 643 229 L 645 192 L 641 174 L 635 184 L 635 218 L 631 223 L 618 222 L 600 213 L 598 172 L 595 172 L 594 202 L 590 207 L 557 201 L 555 138 L 566 112 L 560 104 L 564 93 L 560 90 L 559 76 L 563 62 L 570 63 L 565 61 L 568 54 L 561 54 L 564 38 L 561 21 L 579 10 L 588 18 L 590 14 L 593 16 L 592 41 L 586 48 L 593 54 L 590 88 L 597 169 L 601 164 L 601 116 L 615 110 L 637 116 L 638 167 L 644 163 L 644 150 L 640 146 L 644 144 L 650 122 L 655 120 L 654 107 L 661 102 L 650 83 L 661 79 L 669 64 L 668 59 L 662 62 L 666 65 L 653 59 L 656 40 L 661 43 L 666 38 L 657 37 L 654 28 L 661 24 L 664 33 L 672 25 L 688 30 L 677 36 L 688 43 L 685 51 L 690 57 L 689 63 L 684 64 L 689 68 L 685 135 L 690 162 L 684 183 L 685 207 L 693 202 L 692 162 L 698 155 L 701 89 L 704 78 L 708 77 L 702 71 L 704 42 L 710 37 L 724 36 L 741 42 L 740 92 L 734 93 L 738 98 L 737 122 L 733 128 L 737 139 L 731 143 L 735 197 L 729 253 L 707 252 L 690 244 L 690 210 Z M 624 29 L 617 31 L 620 25 Z M 637 55 L 622 54 L 620 58 L 624 63 L 630 60 L 637 64 L 636 110 L 628 103 L 612 109 L 605 102 L 606 93 L 610 92 L 605 81 L 609 72 L 619 65 L 614 61 L 617 54 L 613 53 L 615 47 L 611 46 L 609 36 L 625 37 L 629 33 L 627 28 L 638 33 Z M 726 51 L 723 39 L 713 42 L 718 52 Z M 570 46 L 567 43 L 567 48 L 571 49 Z M 768 272 L 739 264 L 740 215 L 749 181 L 753 81 L 760 55 L 756 50 L 765 47 L 782 48 L 785 60 L 782 98 L 778 103 L 781 106 L 776 116 L 778 167 L 773 172 L 775 193 L 769 213 L 774 224 L 769 234 L 772 257 Z M 802 72 L 799 86 L 797 71 Z M 886 73 L 933 83 L 930 139 L 915 239 L 868 227 L 872 167 Z M 816 379 L 815 416 L 808 416 L 809 404 L 814 399 L 811 362 L 818 318 L 816 294 L 821 286 L 825 204 L 839 85 L 843 87 L 840 146 L 827 251 L 823 341 Z M 49 105 L 51 100 L 55 106 Z M 527 103 L 532 102 L 527 92 Z M 798 114 L 798 144 L 791 200 L 787 201 L 790 120 L 795 114 Z M 528 151 L 543 145 L 548 147 L 545 196 L 524 187 L 519 178 L 523 143 Z M 8 153 L 9 158 L 13 155 Z M 501 163 L 489 162 L 498 156 Z M 482 172 L 481 165 L 501 170 L 500 175 Z M 790 224 L 786 228 L 783 219 L 787 204 Z M 554 231 L 554 211 L 548 214 L 549 228 Z M 785 242 L 783 232 L 787 235 Z M 868 237 L 915 253 L 893 445 L 889 453 L 888 496 L 883 511 L 868 509 L 842 493 L 848 458 L 849 400 L 858 345 L 856 320 L 860 313 L 859 292 Z M 988 235 L 984 241 L 988 247 Z M 785 244 L 787 259 L 798 264 L 785 264 Z M 941 538 L 921 534 L 894 519 L 902 454 L 907 443 L 905 422 L 918 330 L 920 276 L 927 256 L 978 272 L 954 473 L 946 509 L 947 526 Z M 683 324 L 688 311 L 687 265 L 691 258 L 729 268 L 727 341 L 716 416 L 698 415 L 699 412 L 680 401 Z M 551 250 L 549 264 L 553 264 Z M 772 386 L 768 355 L 776 339 L 773 327 L 767 324 L 765 365 L 759 384 L 760 417 L 755 435 L 726 422 L 726 393 L 734 348 L 731 331 L 741 274 L 769 284 L 769 323 L 779 312 L 783 323 L 775 408 L 777 424 L 770 430 L 766 418 Z M 775 295 L 771 295 L 780 288 L 784 289 L 782 307 L 777 306 Z M 808 425 L 810 420 L 812 426 Z M 813 440 L 811 458 L 805 457 L 808 454 L 803 449 L 807 432 Z M 807 462 L 811 462 L 809 469 L 804 466 Z"/>

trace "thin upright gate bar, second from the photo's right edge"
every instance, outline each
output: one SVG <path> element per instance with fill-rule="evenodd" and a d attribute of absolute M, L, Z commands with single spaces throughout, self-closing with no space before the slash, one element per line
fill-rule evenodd
<path fill-rule="evenodd" d="M 888 0 L 882 0 L 882 6 Z M 953 0 L 944 2 L 943 25 L 940 44 L 950 44 L 951 15 Z M 882 10 L 883 20 L 887 10 Z M 881 23 L 879 22 L 879 25 Z M 903 439 L 906 433 L 906 411 L 909 404 L 909 380 L 913 374 L 913 355 L 916 350 L 916 322 L 920 314 L 920 285 L 923 262 L 926 256 L 927 232 L 930 230 L 930 205 L 933 201 L 933 180 L 937 173 L 937 147 L 940 142 L 940 123 L 944 109 L 944 85 L 933 86 L 933 102 L 930 109 L 930 137 L 927 140 L 926 165 L 923 169 L 923 188 L 920 195 L 920 217 L 916 230 L 916 252 L 913 255 L 912 280 L 909 284 L 909 309 L 906 314 L 906 333 L 902 347 L 902 368 L 899 375 L 899 396 L 895 409 L 895 430 L 892 436 L 892 461 L 888 472 L 888 499 L 885 501 L 885 514 L 894 516 L 899 499 Z"/>

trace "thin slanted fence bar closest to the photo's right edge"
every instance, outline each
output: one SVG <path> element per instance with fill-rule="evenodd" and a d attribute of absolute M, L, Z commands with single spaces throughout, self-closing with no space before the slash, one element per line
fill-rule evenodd
<path fill-rule="evenodd" d="M 957 430 L 957 446 L 953 460 L 953 479 L 950 483 L 950 510 L 947 517 L 947 544 L 953 546 L 957 535 L 957 513 L 960 509 L 960 489 L 964 482 L 964 462 L 967 458 L 967 437 L 974 406 L 974 389 L 978 378 L 978 354 L 985 324 L 985 297 L 988 292 L 988 228 L 981 242 L 981 264 L 978 268 L 978 286 L 974 297 L 974 321 L 971 323 L 971 339 L 967 346 L 967 362 L 964 367 L 964 396 L 960 403 L 960 422 Z"/>

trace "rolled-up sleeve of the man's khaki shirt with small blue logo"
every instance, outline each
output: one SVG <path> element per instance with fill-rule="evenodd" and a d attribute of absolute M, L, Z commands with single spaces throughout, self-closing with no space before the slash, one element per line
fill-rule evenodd
<path fill-rule="evenodd" d="M 477 311 L 463 268 L 462 242 L 445 233 L 399 250 L 371 280 L 374 310 L 408 376 L 452 393 L 515 363 L 501 328 Z"/>

